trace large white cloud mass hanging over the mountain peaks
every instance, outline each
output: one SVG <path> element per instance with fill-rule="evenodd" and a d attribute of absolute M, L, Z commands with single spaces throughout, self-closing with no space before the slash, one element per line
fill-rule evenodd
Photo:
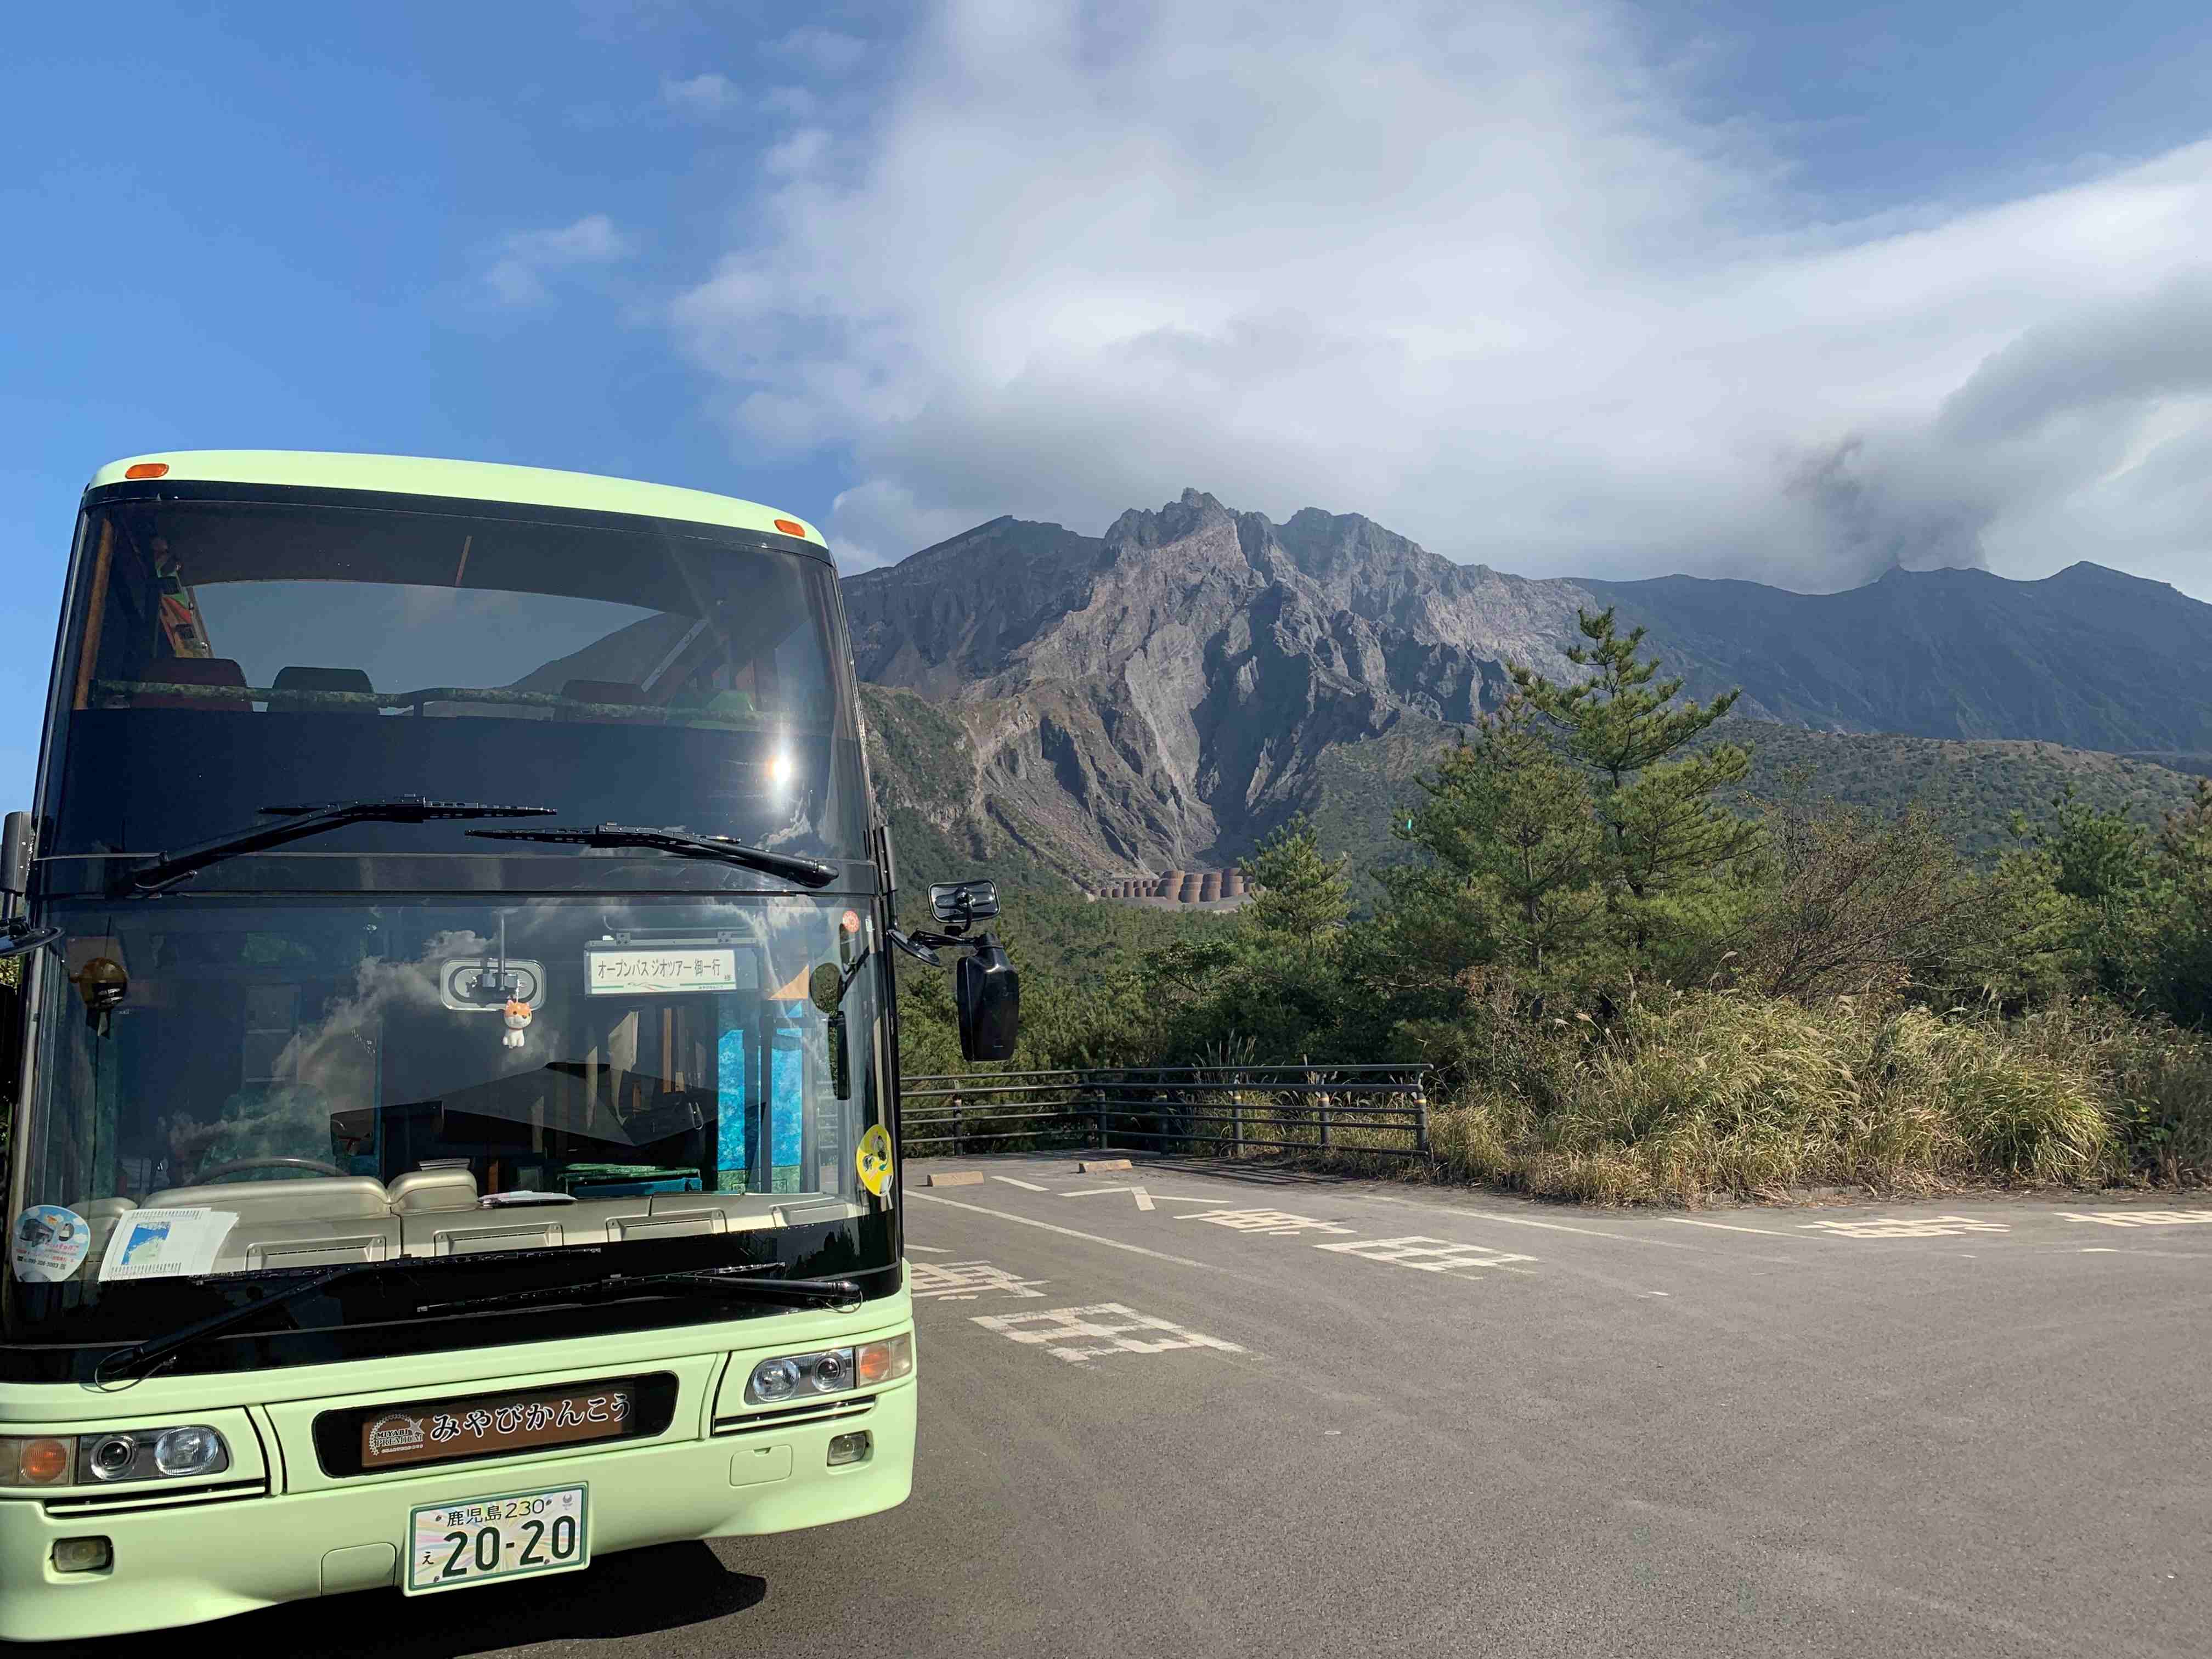
<path fill-rule="evenodd" d="M 2212 144 L 1829 223 L 1624 13 L 1385 11 L 947 0 L 675 323 L 878 553 L 1199 484 L 1535 573 L 2212 595 Z"/>

